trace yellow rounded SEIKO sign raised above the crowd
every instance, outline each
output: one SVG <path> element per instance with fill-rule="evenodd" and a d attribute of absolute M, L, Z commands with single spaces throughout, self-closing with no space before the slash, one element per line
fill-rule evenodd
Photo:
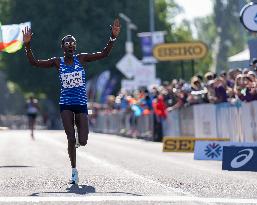
<path fill-rule="evenodd" d="M 207 46 L 202 42 L 158 44 L 153 49 L 159 61 L 194 60 L 207 54 Z"/>

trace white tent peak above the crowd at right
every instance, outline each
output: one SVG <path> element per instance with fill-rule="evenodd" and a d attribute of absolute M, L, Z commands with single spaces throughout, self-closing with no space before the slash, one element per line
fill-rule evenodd
<path fill-rule="evenodd" d="M 250 51 L 248 48 L 228 58 L 229 68 L 246 68 L 249 67 L 249 62 Z"/>

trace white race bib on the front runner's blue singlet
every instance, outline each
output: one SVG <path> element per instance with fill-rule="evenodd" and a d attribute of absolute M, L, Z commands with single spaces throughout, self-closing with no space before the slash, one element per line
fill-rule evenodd
<path fill-rule="evenodd" d="M 64 88 L 74 88 L 83 86 L 82 71 L 61 74 L 62 86 Z"/>

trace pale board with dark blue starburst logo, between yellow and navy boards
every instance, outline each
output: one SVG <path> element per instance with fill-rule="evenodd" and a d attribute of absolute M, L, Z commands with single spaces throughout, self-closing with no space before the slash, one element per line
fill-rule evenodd
<path fill-rule="evenodd" d="M 196 141 L 194 159 L 222 161 L 224 146 L 253 147 L 253 146 L 257 146 L 257 143 Z"/>

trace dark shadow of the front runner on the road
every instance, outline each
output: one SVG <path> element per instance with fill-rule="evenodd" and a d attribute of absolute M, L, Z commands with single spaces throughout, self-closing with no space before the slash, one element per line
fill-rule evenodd
<path fill-rule="evenodd" d="M 97 193 L 97 194 L 126 194 L 131 196 L 142 196 L 139 194 L 133 194 L 133 193 L 127 193 L 127 192 L 96 192 L 95 187 L 93 186 L 87 186 L 87 185 L 77 185 L 72 184 L 70 187 L 66 188 L 65 191 L 60 192 L 37 192 L 33 193 L 29 196 L 40 196 L 41 194 L 78 194 L 78 195 L 86 195 L 91 193 Z"/>

